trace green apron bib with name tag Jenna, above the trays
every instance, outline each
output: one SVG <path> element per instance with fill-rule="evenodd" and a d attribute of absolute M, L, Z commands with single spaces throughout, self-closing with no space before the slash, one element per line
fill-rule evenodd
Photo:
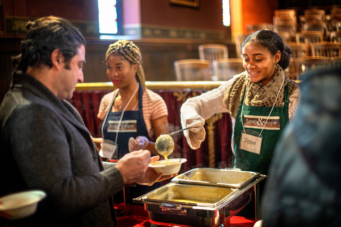
<path fill-rule="evenodd" d="M 244 92 L 245 96 L 245 92 Z M 244 97 L 243 99 L 244 100 Z M 236 122 L 234 127 L 234 151 L 235 151 L 235 167 L 240 168 L 242 171 L 252 171 L 267 175 L 268 168 L 272 159 L 273 150 L 279 137 L 284 129 L 284 126 L 289 122 L 289 87 L 284 87 L 284 107 L 255 107 L 255 106 L 243 106 L 243 101 L 240 102 L 239 109 L 236 116 Z M 262 132 L 263 140 L 260 154 L 252 153 L 250 151 L 242 150 L 239 148 L 241 132 L 243 126 L 240 118 L 241 110 L 243 108 L 242 118 L 245 119 L 245 115 L 252 116 L 264 116 L 265 119 L 269 116 L 279 116 L 279 129 L 264 129 Z M 251 127 L 251 126 L 250 126 Z M 244 123 L 245 129 L 252 129 L 261 133 L 262 128 L 248 128 L 247 124 Z"/>

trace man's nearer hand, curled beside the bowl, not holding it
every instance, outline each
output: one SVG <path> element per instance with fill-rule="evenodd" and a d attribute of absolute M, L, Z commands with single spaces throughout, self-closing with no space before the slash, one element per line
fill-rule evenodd
<path fill-rule="evenodd" d="M 131 184 L 144 178 L 151 161 L 148 150 L 133 151 L 118 160 L 116 168 L 123 177 L 124 184 Z"/>

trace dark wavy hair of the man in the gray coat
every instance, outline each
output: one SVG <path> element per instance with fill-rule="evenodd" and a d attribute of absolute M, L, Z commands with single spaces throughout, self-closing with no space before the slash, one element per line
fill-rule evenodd
<path fill-rule="evenodd" d="M 65 58 L 66 66 L 77 54 L 77 48 L 85 45 L 80 31 L 69 21 L 55 16 L 28 21 L 28 33 L 21 41 L 21 53 L 13 58 L 13 65 L 26 72 L 29 66 L 41 64 L 52 67 L 51 53 L 59 49 Z"/>

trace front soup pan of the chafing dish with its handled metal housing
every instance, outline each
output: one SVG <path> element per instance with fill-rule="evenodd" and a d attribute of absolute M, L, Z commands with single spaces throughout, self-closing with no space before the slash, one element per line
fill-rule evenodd
<path fill-rule="evenodd" d="M 258 183 L 265 177 L 262 174 L 255 174 L 252 180 L 247 180 L 240 188 L 172 181 L 133 200 L 144 204 L 152 224 L 230 226 L 230 217 L 251 201 L 252 196 L 256 195 Z"/>

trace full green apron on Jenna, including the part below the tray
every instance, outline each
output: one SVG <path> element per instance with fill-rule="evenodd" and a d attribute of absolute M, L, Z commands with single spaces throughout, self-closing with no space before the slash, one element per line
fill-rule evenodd
<path fill-rule="evenodd" d="M 245 96 L 245 92 L 244 92 Z M 244 100 L 244 96 L 242 100 Z M 242 171 L 251 171 L 251 172 L 257 172 L 264 175 L 268 174 L 268 169 L 270 166 L 270 162 L 273 156 L 273 151 L 275 149 L 275 146 L 277 144 L 277 141 L 280 138 L 280 135 L 282 134 L 285 125 L 289 122 L 289 85 L 284 87 L 284 107 L 273 107 L 273 110 L 271 112 L 272 107 L 255 107 L 255 106 L 243 106 L 243 101 L 239 104 L 239 109 L 236 115 L 236 122 L 234 127 L 234 151 L 235 151 L 235 168 L 240 168 Z M 242 112 L 242 113 L 241 113 Z M 271 114 L 270 114 L 271 112 Z M 241 118 L 242 114 L 242 118 Z M 273 117 L 274 119 L 269 119 L 268 123 L 276 123 L 277 127 L 274 128 L 267 128 L 265 127 L 263 129 L 263 125 L 258 127 L 259 125 L 255 124 L 255 120 L 252 121 L 252 119 L 257 119 L 258 116 L 263 116 L 263 120 L 267 119 L 269 116 Z M 279 119 L 278 119 L 279 118 Z M 244 130 L 243 125 L 241 122 L 241 119 L 243 119 L 243 124 L 245 129 L 252 129 L 254 131 L 257 131 L 258 133 L 262 132 L 263 140 L 262 140 L 262 146 L 260 154 L 253 153 L 250 151 L 242 150 L 239 148 L 240 146 L 240 140 L 241 140 L 241 132 Z M 259 119 L 259 118 L 258 118 Z M 248 123 L 249 122 L 249 123 Z M 278 125 L 279 123 L 279 125 Z M 261 181 L 259 184 L 259 189 L 262 192 L 264 191 L 264 184 L 265 180 Z M 257 218 L 259 218 L 259 190 L 257 190 Z M 250 210 L 246 209 L 247 207 L 243 208 L 238 215 L 246 217 L 254 217 L 254 200 L 251 201 L 249 204 Z M 248 206 L 247 205 L 247 206 Z M 252 209 L 253 208 L 253 209 Z M 253 210 L 253 211 L 252 211 Z"/>

